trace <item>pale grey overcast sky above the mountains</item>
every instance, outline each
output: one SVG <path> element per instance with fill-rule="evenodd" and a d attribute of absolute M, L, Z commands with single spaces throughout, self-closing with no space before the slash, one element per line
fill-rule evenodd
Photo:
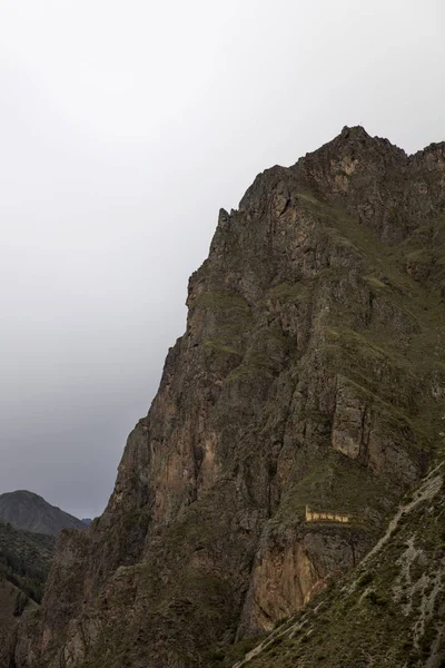
<path fill-rule="evenodd" d="M 445 137 L 443 0 L 0 0 L 0 492 L 103 509 L 219 207 Z"/>

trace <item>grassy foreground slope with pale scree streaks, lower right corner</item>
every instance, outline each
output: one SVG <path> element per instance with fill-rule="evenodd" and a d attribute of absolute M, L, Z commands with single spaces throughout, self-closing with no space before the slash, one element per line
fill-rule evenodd
<path fill-rule="evenodd" d="M 236 667 L 443 667 L 444 490 L 441 464 L 404 500 L 349 577 L 279 626 Z M 214 665 L 231 667 L 233 661 L 221 656 Z"/>

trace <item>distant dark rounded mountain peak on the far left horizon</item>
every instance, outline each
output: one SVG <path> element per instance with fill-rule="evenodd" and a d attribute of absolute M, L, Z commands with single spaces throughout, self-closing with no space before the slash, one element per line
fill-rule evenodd
<path fill-rule="evenodd" d="M 0 521 L 26 531 L 53 536 L 61 529 L 85 529 L 81 520 L 26 490 L 0 494 Z"/>

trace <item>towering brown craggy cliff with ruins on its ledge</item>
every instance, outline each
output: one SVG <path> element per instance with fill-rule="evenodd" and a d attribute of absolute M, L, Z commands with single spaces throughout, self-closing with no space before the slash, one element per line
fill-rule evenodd
<path fill-rule="evenodd" d="M 364 557 L 442 442 L 444 236 L 445 145 L 407 157 L 363 128 L 219 213 L 186 333 L 103 515 L 61 532 L 18 668 L 210 666 Z"/>

